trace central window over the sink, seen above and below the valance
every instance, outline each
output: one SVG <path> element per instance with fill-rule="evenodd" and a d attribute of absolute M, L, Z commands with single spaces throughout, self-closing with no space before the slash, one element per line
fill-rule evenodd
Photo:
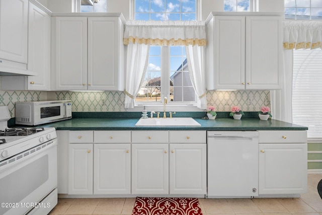
<path fill-rule="evenodd" d="M 135 20 L 189 21 L 196 20 L 198 0 L 134 1 Z M 190 80 L 186 47 L 151 45 L 144 81 L 136 95 L 135 106 L 184 106 L 190 110 L 197 105 L 197 95 Z"/>

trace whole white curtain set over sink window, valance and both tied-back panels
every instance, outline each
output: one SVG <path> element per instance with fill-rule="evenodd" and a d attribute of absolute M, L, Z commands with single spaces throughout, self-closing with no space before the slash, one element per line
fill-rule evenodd
<path fill-rule="evenodd" d="M 123 43 L 128 45 L 125 82 L 125 108 L 133 108 L 145 76 L 150 45 L 188 46 L 190 78 L 199 97 L 198 107 L 206 108 L 203 21 L 135 21 L 125 25 Z"/>

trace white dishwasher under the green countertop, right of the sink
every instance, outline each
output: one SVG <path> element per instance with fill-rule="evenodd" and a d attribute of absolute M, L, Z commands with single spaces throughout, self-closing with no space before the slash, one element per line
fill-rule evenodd
<path fill-rule="evenodd" d="M 207 131 L 207 198 L 258 196 L 258 132 Z"/>

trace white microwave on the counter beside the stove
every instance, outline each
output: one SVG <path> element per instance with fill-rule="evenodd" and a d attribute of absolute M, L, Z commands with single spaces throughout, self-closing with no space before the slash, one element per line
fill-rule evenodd
<path fill-rule="evenodd" d="M 16 124 L 39 125 L 71 119 L 71 101 L 16 102 Z"/>

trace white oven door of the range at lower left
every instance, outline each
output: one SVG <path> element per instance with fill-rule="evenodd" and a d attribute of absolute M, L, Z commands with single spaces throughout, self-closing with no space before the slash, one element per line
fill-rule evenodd
<path fill-rule="evenodd" d="M 57 187 L 57 139 L 0 163 L 0 214 L 25 214 Z"/>

